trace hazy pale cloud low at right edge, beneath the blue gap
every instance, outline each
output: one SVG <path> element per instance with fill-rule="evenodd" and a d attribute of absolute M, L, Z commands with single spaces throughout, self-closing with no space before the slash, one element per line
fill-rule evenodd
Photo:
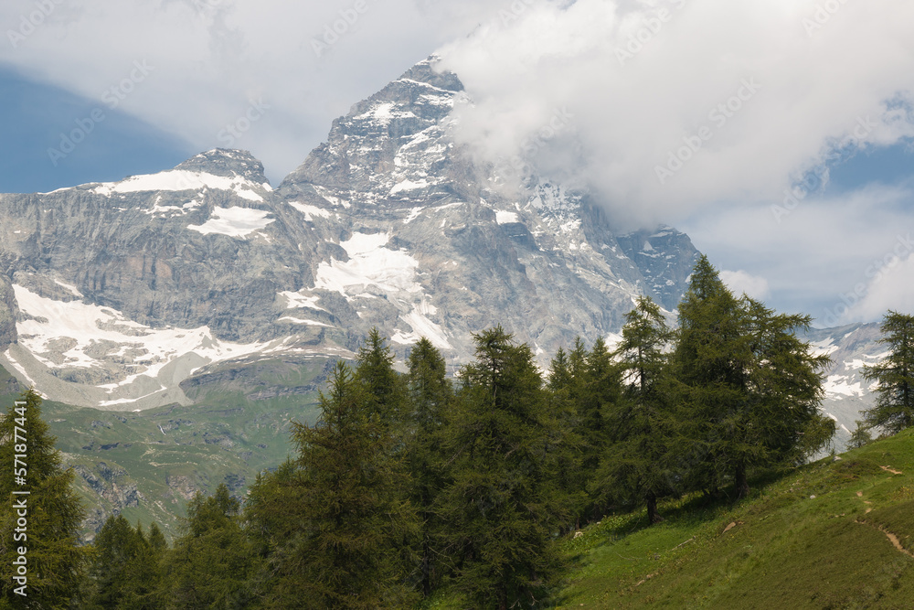
<path fill-rule="evenodd" d="M 872 322 L 906 306 L 901 296 L 910 284 L 886 271 L 908 256 L 914 183 L 809 195 L 780 222 L 774 205 L 720 205 L 680 229 L 718 267 L 766 278 L 766 302 L 811 314 L 816 326 Z"/>

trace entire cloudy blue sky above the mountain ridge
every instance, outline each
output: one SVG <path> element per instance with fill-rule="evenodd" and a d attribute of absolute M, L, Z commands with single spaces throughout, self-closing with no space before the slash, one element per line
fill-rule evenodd
<path fill-rule="evenodd" d="M 914 3 L 5 0 L 0 192 L 250 150 L 273 184 L 438 53 L 455 137 L 685 230 L 816 326 L 914 311 Z"/>

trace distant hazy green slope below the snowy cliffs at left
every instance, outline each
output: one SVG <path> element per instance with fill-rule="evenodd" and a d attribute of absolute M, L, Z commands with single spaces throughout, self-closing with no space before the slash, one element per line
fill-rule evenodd
<path fill-rule="evenodd" d="M 43 412 L 89 509 L 84 535 L 116 512 L 155 520 L 169 538 L 197 490 L 226 483 L 242 496 L 257 474 L 292 452 L 290 421 L 314 422 L 327 361 L 224 364 L 185 382 L 195 401 L 143 412 L 80 409 L 45 401 Z M 0 401 L 16 380 L 0 368 Z"/>

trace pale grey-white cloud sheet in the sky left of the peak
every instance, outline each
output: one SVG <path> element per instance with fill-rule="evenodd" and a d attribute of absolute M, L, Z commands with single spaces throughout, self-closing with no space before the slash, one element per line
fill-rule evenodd
<path fill-rule="evenodd" d="M 249 149 L 275 181 L 324 140 L 335 117 L 497 8 L 482 0 L 7 0 L 0 62 L 106 108 L 105 91 L 144 61 L 154 70 L 118 110 L 200 151 Z M 253 103 L 270 109 L 229 140 L 227 127 Z"/>

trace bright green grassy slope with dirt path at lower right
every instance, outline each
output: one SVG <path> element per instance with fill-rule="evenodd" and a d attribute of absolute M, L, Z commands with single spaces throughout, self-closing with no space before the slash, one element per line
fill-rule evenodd
<path fill-rule="evenodd" d="M 914 607 L 914 431 L 756 481 L 736 505 L 690 498 L 562 542 L 556 608 Z M 897 544 L 896 544 L 897 543 Z M 465 608 L 442 593 L 426 608 Z"/>

